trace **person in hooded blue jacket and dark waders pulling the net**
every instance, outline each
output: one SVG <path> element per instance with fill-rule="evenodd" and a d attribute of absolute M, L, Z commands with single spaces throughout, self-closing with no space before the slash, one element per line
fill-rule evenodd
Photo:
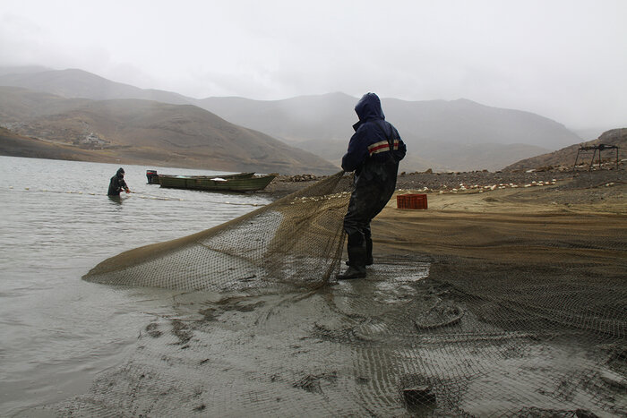
<path fill-rule="evenodd" d="M 365 277 L 365 266 L 373 263 L 370 221 L 382 211 L 396 189 L 399 161 L 407 148 L 399 132 L 385 121 L 381 100 L 366 93 L 355 107 L 359 122 L 342 157 L 342 169 L 355 171 L 355 188 L 344 217 L 348 235 L 348 269 L 338 279 Z"/>

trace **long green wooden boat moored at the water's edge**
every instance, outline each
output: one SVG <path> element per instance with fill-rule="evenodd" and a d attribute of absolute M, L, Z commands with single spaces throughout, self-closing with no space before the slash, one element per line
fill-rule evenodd
<path fill-rule="evenodd" d="M 219 192 L 256 192 L 274 180 L 276 175 L 159 175 L 161 187 Z"/>

